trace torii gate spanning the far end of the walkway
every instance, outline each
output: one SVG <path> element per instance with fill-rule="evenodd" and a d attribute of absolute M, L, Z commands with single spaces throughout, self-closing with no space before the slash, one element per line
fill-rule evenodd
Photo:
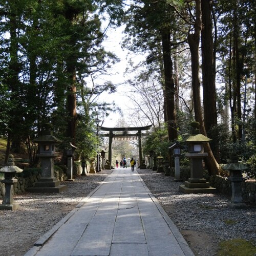
<path fill-rule="evenodd" d="M 142 164 L 142 144 L 141 144 L 141 136 L 143 134 L 141 131 L 150 130 L 152 127 L 151 125 L 142 126 L 142 127 L 115 127 L 115 128 L 109 128 L 109 127 L 101 127 L 101 131 L 107 131 L 109 134 L 103 134 L 103 137 L 109 137 L 109 161 L 111 166 L 111 159 L 112 159 L 112 141 L 113 138 L 124 138 L 124 137 L 138 137 L 139 140 L 139 158 L 140 158 L 140 164 Z M 128 131 L 137 131 L 135 134 L 129 134 Z M 113 132 L 122 132 L 122 134 L 114 134 Z"/>

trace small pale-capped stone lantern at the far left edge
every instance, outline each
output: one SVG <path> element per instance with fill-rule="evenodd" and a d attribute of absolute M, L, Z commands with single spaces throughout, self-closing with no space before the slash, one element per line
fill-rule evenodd
<path fill-rule="evenodd" d="M 13 155 L 9 156 L 8 164 L 0 169 L 0 173 L 5 174 L 5 179 L 2 182 L 5 184 L 5 196 L 3 203 L 0 204 L 0 210 L 16 210 L 18 204 L 13 200 L 13 184 L 18 180 L 15 179 L 16 173 L 22 173 L 23 169 L 15 166 Z"/>

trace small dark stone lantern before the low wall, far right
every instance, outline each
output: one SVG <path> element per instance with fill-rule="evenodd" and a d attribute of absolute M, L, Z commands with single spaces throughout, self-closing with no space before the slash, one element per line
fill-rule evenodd
<path fill-rule="evenodd" d="M 231 203 L 227 206 L 230 208 L 244 208 L 246 207 L 246 204 L 243 203 L 241 189 L 241 182 L 244 178 L 241 171 L 248 168 L 238 162 L 238 156 L 234 152 L 230 154 L 230 160 L 228 162 L 229 163 L 227 165 L 222 167 L 224 170 L 229 171 L 230 177 L 228 177 L 228 179 L 231 181 L 232 187 Z"/>

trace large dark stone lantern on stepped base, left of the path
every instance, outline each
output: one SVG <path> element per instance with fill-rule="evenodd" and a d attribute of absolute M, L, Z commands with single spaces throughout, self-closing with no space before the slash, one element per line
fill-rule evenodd
<path fill-rule="evenodd" d="M 61 142 L 52 135 L 51 124 L 45 125 L 42 135 L 33 142 L 39 144 L 39 154 L 37 156 L 41 160 L 41 178 L 35 182 L 34 187 L 28 188 L 28 191 L 35 193 L 59 193 L 67 189 L 66 185 L 60 185 L 60 181 L 54 177 L 54 158 L 55 143 Z"/>

